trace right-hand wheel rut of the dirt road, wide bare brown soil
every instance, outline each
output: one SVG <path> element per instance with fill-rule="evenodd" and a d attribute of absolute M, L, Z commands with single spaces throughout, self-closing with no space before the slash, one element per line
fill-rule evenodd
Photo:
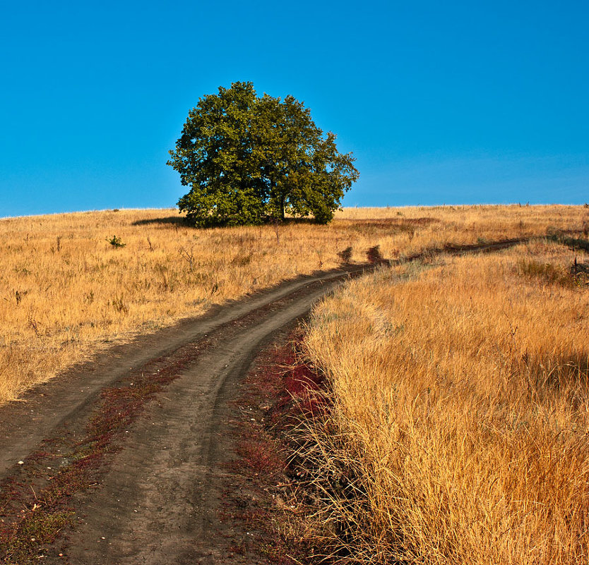
<path fill-rule="evenodd" d="M 223 438 L 235 384 L 259 348 L 335 284 L 307 289 L 253 323 L 224 332 L 158 395 L 129 430 L 102 485 L 81 496 L 85 517 L 71 536 L 73 563 L 220 562 L 211 532 L 227 472 L 222 463 L 232 457 Z"/>

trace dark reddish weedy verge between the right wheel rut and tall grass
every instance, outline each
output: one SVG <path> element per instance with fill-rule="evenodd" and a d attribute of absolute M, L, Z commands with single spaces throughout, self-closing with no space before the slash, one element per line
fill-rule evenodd
<path fill-rule="evenodd" d="M 259 563 L 309 563 L 316 554 L 304 535 L 306 508 L 299 503 L 304 472 L 293 458 L 293 429 L 304 418 L 328 409 L 324 377 L 297 352 L 302 330 L 261 351 L 240 387 L 240 418 L 231 428 L 235 458 L 225 487 L 222 518 L 232 530 L 246 530 L 227 557 L 257 554 Z M 240 478 L 236 482 L 236 478 Z M 236 486 L 239 485 L 239 488 Z"/>

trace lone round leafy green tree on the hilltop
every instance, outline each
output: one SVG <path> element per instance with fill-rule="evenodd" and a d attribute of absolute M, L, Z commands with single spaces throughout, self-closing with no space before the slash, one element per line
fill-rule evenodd
<path fill-rule="evenodd" d="M 196 226 L 237 226 L 313 216 L 326 224 L 358 178 L 309 109 L 292 96 L 258 97 L 252 83 L 219 87 L 189 112 L 167 162 L 188 194 L 178 201 Z"/>

